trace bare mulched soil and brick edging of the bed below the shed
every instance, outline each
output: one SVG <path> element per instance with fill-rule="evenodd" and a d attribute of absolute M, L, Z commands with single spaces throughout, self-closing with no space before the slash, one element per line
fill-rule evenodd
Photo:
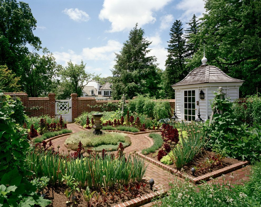
<path fill-rule="evenodd" d="M 204 152 L 202 152 L 202 155 L 200 154 L 195 156 L 193 161 L 185 165 L 183 167 L 184 172 L 177 171 L 174 164 L 166 165 L 159 162 L 158 160 L 156 160 L 157 158 L 153 155 L 155 153 L 149 153 L 146 156 L 141 154 L 140 152 L 137 152 L 136 154 L 146 159 L 146 161 L 155 164 L 158 167 L 161 167 L 162 169 L 167 170 L 173 174 L 176 174 L 181 178 L 184 178 L 185 175 L 188 176 L 191 182 L 193 182 L 194 184 L 199 184 L 203 180 L 207 181 L 211 177 L 215 178 L 221 176 L 222 174 L 233 172 L 248 164 L 248 161 L 239 161 L 237 159 L 225 158 L 222 166 L 215 166 L 214 168 L 211 169 L 211 171 L 205 171 L 204 173 L 197 172 L 195 173 L 195 176 L 193 176 L 191 173 L 191 168 L 204 161 L 206 157 L 212 156 L 214 154 L 213 152 L 208 152 L 208 151 L 205 152 L 206 152 L 205 154 Z"/>

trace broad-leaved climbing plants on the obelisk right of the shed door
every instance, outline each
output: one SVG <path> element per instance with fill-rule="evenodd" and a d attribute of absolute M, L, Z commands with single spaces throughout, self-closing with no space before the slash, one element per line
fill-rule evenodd
<path fill-rule="evenodd" d="M 204 129 L 209 138 L 207 146 L 225 151 L 228 156 L 240 160 L 258 160 L 261 154 L 260 125 L 249 127 L 248 124 L 241 124 L 235 118 L 233 103 L 227 98 L 220 100 L 215 97 L 212 104 L 223 109 L 224 113 L 214 115 L 210 125 L 206 121 Z"/>

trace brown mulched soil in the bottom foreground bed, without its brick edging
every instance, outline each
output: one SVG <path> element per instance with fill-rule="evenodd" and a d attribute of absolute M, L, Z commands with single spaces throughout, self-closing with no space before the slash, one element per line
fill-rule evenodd
<path fill-rule="evenodd" d="M 146 182 L 147 183 L 147 182 Z M 135 185 L 132 185 L 133 187 Z M 69 203 L 66 203 L 66 201 L 68 201 L 67 197 L 64 195 L 64 191 L 66 190 L 66 186 L 61 186 L 61 187 L 51 187 L 50 188 L 50 193 L 48 192 L 48 190 L 45 190 L 46 196 L 44 197 L 45 199 L 49 199 L 52 201 L 52 203 L 49 206 L 53 206 L 53 207 L 66 207 L 66 206 L 72 206 L 73 203 L 71 202 L 72 200 L 70 199 Z M 91 189 L 91 191 L 97 191 L 100 195 L 101 195 L 101 191 L 100 189 Z M 110 194 L 111 192 L 115 192 L 115 196 L 114 196 L 114 200 L 112 200 L 112 195 Z M 151 192 L 153 192 L 152 190 L 150 190 L 150 186 L 147 183 L 145 187 L 141 186 L 139 191 L 136 190 L 136 188 L 134 187 L 134 190 L 132 190 L 132 193 L 130 191 L 128 191 L 128 193 L 126 194 L 126 191 L 124 190 L 123 187 L 123 193 L 121 194 L 121 198 L 119 197 L 118 194 L 118 188 L 117 186 L 115 186 L 114 188 L 110 188 L 108 190 L 108 196 L 107 196 L 107 201 L 104 203 L 104 201 L 102 200 L 101 196 L 99 197 L 98 200 L 98 204 L 96 204 L 96 202 L 94 201 L 94 203 L 92 204 L 92 206 L 98 206 L 98 207 L 107 207 L 107 206 L 114 206 L 120 203 L 124 203 L 125 201 L 134 199 L 136 197 L 141 197 L 143 195 L 147 195 Z M 94 194 L 95 195 L 95 194 Z M 84 200 L 83 194 L 82 193 L 75 193 L 76 196 L 76 204 L 74 204 L 73 206 L 86 206 L 86 201 Z"/>

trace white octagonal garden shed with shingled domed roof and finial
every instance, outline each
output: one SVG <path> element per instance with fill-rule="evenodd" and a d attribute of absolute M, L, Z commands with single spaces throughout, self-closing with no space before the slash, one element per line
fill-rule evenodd
<path fill-rule="evenodd" d="M 207 65 L 207 58 L 201 60 L 202 65 L 193 69 L 182 81 L 173 84 L 175 90 L 175 111 L 178 120 L 187 121 L 200 118 L 206 121 L 211 116 L 210 100 L 214 98 L 212 91 L 223 87 L 226 97 L 231 101 L 239 98 L 239 87 L 244 81 L 231 78 L 218 67 Z M 200 98 L 200 93 L 204 93 L 204 98 Z M 203 94 L 202 94 L 203 95 Z"/>

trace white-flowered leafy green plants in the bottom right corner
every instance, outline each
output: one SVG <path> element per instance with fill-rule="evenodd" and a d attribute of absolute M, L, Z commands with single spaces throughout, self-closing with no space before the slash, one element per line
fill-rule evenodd
<path fill-rule="evenodd" d="M 256 163 L 252 168 L 252 174 L 248 182 L 243 185 L 231 187 L 231 180 L 224 185 L 213 181 L 211 184 L 194 186 L 189 178 L 185 182 L 174 177 L 168 196 L 157 202 L 156 206 L 260 206 L 261 205 L 261 164 Z M 232 178 L 231 178 L 232 179 Z M 183 183 L 182 183 L 183 182 Z M 159 205 L 160 204 L 160 205 Z"/>

